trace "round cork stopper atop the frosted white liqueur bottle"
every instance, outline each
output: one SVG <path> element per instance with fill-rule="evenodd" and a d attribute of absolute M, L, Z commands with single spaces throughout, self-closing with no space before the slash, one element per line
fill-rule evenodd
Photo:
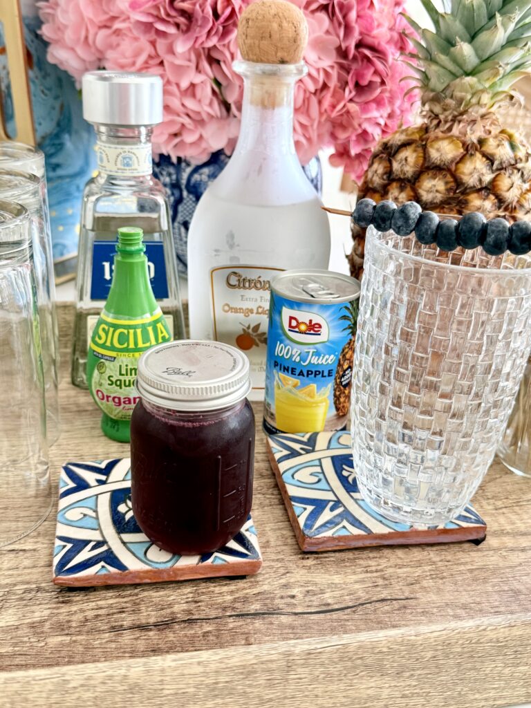
<path fill-rule="evenodd" d="M 308 42 L 302 11 L 286 0 L 257 0 L 238 23 L 238 47 L 246 62 L 298 64 Z"/>

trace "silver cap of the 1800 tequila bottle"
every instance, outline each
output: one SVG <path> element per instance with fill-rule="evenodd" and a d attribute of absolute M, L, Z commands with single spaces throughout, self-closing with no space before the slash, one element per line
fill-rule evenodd
<path fill-rule="evenodd" d="M 83 117 L 105 125 L 156 125 L 162 122 L 162 79 L 153 74 L 87 72 Z"/>

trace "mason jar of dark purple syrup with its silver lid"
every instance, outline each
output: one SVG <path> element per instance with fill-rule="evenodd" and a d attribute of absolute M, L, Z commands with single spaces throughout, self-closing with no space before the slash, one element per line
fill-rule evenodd
<path fill-rule="evenodd" d="M 214 551 L 246 522 L 255 431 L 249 387 L 249 360 L 217 342 L 171 342 L 139 361 L 132 508 L 166 551 Z"/>

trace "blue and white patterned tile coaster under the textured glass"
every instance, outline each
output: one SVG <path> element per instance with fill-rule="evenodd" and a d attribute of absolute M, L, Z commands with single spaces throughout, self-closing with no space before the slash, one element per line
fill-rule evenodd
<path fill-rule="evenodd" d="M 350 433 L 271 435 L 269 457 L 299 546 L 333 551 L 452 541 L 481 542 L 486 523 L 472 506 L 445 526 L 428 530 L 394 523 L 362 500 L 350 452 Z"/>

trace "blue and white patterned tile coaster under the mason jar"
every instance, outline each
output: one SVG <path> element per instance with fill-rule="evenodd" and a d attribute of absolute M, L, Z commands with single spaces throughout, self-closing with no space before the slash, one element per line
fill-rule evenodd
<path fill-rule="evenodd" d="M 219 551 L 178 556 L 155 546 L 131 508 L 130 459 L 69 462 L 59 480 L 53 581 L 62 586 L 158 583 L 258 573 L 251 515 Z"/>

